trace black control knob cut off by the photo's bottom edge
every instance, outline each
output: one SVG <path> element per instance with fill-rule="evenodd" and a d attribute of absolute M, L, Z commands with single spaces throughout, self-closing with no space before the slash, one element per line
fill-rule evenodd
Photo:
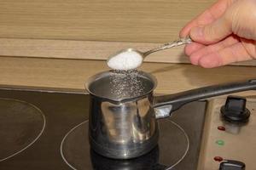
<path fill-rule="evenodd" d="M 241 161 L 225 160 L 219 165 L 219 170 L 245 170 L 245 163 Z"/>

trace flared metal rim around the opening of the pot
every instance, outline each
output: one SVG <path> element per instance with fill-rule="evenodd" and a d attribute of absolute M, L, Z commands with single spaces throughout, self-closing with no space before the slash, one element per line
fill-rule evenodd
<path fill-rule="evenodd" d="M 112 101 L 112 102 L 115 102 L 115 103 L 121 103 L 121 102 L 125 102 L 125 101 L 130 101 L 130 100 L 134 100 L 134 99 L 141 99 L 145 96 L 147 96 L 148 94 L 151 94 L 153 93 L 154 89 L 157 87 L 157 79 L 156 77 L 154 77 L 153 75 L 151 75 L 150 73 L 147 73 L 145 71 L 138 71 L 138 73 L 140 75 L 142 75 L 143 77 L 146 77 L 148 78 L 151 82 L 153 82 L 153 87 L 148 90 L 147 92 L 145 92 L 144 94 L 141 94 L 141 95 L 138 95 L 136 97 L 132 97 L 132 98 L 120 98 L 120 99 L 111 99 L 111 98 L 108 98 L 108 96 L 101 96 L 101 95 L 97 95 L 96 93 L 93 93 L 91 90 L 90 90 L 90 85 L 93 83 L 93 82 L 96 82 L 96 80 L 104 77 L 104 76 L 108 76 L 109 73 L 111 73 L 113 70 L 109 70 L 109 71 L 102 71 L 102 72 L 99 72 L 99 73 L 96 73 L 96 75 L 93 75 L 91 77 L 89 77 L 87 79 L 87 81 L 85 82 L 84 86 L 85 86 L 85 89 L 87 90 L 87 92 L 93 96 L 96 96 L 98 98 L 102 98 L 102 99 L 106 99 L 106 100 L 109 100 L 109 101 Z"/>

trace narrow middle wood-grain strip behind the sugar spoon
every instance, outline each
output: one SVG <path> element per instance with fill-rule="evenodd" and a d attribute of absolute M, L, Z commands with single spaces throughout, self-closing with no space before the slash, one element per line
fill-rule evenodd
<path fill-rule="evenodd" d="M 94 42 L 72 40 L 42 40 L 0 38 L 0 56 L 23 56 L 57 59 L 108 59 L 124 48 L 147 51 L 161 43 L 146 42 Z M 190 63 L 183 54 L 183 46 L 150 54 L 145 61 L 162 63 Z M 232 65 L 256 65 L 256 59 Z"/>

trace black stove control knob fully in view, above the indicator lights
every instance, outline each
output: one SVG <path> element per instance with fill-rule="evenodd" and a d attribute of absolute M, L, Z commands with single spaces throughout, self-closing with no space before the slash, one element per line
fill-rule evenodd
<path fill-rule="evenodd" d="M 246 108 L 247 99 L 238 96 L 228 96 L 221 107 L 221 114 L 225 121 L 232 123 L 247 122 L 250 111 Z"/>

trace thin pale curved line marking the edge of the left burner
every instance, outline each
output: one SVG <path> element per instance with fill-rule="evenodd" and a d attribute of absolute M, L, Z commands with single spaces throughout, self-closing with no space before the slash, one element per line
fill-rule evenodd
<path fill-rule="evenodd" d="M 36 138 L 35 139 L 32 139 L 32 141 L 29 143 L 29 144 L 26 144 L 22 149 L 18 150 L 18 151 L 15 151 L 15 153 L 9 155 L 9 156 L 6 156 L 5 158 L 3 159 L 0 159 L 0 162 L 1 161 L 5 161 L 5 160 L 8 160 L 9 158 L 11 157 L 14 157 L 18 154 L 20 154 L 22 151 L 26 150 L 27 148 L 29 148 L 30 146 L 32 146 L 32 144 L 34 144 L 42 135 L 42 133 L 44 133 L 44 129 L 45 129 L 45 126 L 46 126 L 46 118 L 44 116 L 44 113 L 43 111 L 41 111 L 36 105 L 32 105 L 31 103 L 28 103 L 26 101 L 23 101 L 23 100 L 20 100 L 20 99 L 9 99 L 9 98 L 0 98 L 0 101 L 1 100 L 5 100 L 5 101 L 13 101 L 13 102 L 17 102 L 17 103 L 20 103 L 22 105 L 29 105 L 31 108 L 33 108 L 35 111 L 37 111 L 40 116 L 43 117 L 43 127 L 41 128 L 41 130 L 39 131 L 39 133 L 37 134 Z"/>

